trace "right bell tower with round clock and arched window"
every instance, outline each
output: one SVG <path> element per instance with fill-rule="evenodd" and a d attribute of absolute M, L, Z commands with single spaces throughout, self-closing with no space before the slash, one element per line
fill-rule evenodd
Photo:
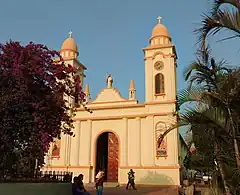
<path fill-rule="evenodd" d="M 144 48 L 145 101 L 176 100 L 175 46 L 167 28 L 161 24 L 161 17 L 153 28 L 149 46 Z"/>

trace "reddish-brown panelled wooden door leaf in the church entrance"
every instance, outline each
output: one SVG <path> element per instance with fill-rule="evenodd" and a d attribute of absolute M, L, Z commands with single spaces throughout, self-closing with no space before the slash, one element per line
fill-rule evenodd
<path fill-rule="evenodd" d="M 114 133 L 108 133 L 108 170 L 107 181 L 118 181 L 119 143 Z"/>

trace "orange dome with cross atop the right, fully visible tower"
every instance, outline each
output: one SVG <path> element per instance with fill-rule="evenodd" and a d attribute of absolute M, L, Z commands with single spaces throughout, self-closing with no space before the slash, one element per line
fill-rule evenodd
<path fill-rule="evenodd" d="M 149 40 L 151 45 L 170 44 L 171 37 L 167 28 L 161 24 L 161 17 L 158 18 L 158 24 L 152 30 L 152 36 Z"/>

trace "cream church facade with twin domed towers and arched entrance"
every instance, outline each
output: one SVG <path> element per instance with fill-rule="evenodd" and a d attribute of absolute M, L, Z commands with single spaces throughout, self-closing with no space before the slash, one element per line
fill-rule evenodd
<path fill-rule="evenodd" d="M 129 81 L 128 98 L 114 88 L 111 75 L 95 100 L 90 100 L 86 85 L 87 107 L 92 113 L 77 108 L 75 136 L 62 135 L 52 143 L 44 170 L 82 173 L 84 182 L 91 183 L 104 168 L 108 182 L 125 184 L 127 172 L 133 169 L 137 184 L 180 184 L 178 130 L 170 132 L 158 147 L 159 136 L 177 121 L 177 54 L 160 21 L 143 52 L 145 102 L 136 99 L 133 80 Z M 63 42 L 60 53 L 66 63 L 78 68 L 83 83 L 86 67 L 77 58 L 78 47 L 71 36 Z"/>

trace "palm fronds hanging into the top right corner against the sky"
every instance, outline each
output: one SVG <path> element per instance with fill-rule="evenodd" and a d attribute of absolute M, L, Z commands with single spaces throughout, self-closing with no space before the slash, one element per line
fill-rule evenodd
<path fill-rule="evenodd" d="M 210 13 L 203 15 L 202 26 L 196 30 L 201 46 L 205 48 L 207 37 L 216 35 L 222 30 L 231 33 L 222 40 L 240 38 L 239 0 L 213 0 Z"/>

